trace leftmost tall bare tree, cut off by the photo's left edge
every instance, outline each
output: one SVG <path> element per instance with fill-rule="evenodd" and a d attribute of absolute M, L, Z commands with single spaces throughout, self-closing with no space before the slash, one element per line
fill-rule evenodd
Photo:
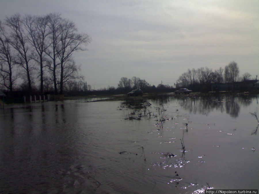
<path fill-rule="evenodd" d="M 14 66 L 14 52 L 9 43 L 9 37 L 0 21 L 0 84 L 10 92 L 13 91 L 13 84 L 17 78 L 13 72 Z"/>

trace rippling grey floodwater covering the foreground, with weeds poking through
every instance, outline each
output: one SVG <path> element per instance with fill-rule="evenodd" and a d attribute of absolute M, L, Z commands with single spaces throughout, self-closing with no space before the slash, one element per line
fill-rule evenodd
<path fill-rule="evenodd" d="M 258 189 L 257 96 L 87 101 L 0 110 L 0 192 Z"/>

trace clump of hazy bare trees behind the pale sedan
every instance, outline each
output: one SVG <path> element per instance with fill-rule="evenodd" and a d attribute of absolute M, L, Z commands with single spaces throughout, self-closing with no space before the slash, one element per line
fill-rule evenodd
<path fill-rule="evenodd" d="M 212 83 L 233 83 L 236 81 L 248 80 L 251 74 L 244 73 L 239 77 L 239 68 L 235 61 L 230 62 L 225 68 L 212 70 L 207 67 L 198 69 L 188 69 L 178 78 L 178 86 L 188 87 L 196 84 L 212 84 Z"/>

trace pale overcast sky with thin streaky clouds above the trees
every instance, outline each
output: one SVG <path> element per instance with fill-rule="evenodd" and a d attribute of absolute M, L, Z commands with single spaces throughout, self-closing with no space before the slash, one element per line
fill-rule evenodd
<path fill-rule="evenodd" d="M 188 68 L 231 61 L 259 76 L 258 0 L 0 0 L 0 20 L 51 12 L 92 37 L 74 59 L 95 89 L 133 76 L 173 85 Z"/>

